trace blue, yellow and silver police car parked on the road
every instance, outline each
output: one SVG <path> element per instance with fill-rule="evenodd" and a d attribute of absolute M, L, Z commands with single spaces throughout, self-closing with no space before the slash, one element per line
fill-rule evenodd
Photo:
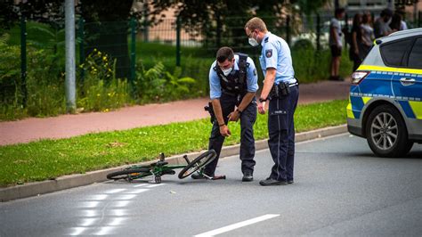
<path fill-rule="evenodd" d="M 378 38 L 353 73 L 347 128 L 377 156 L 400 157 L 422 143 L 422 29 Z"/>

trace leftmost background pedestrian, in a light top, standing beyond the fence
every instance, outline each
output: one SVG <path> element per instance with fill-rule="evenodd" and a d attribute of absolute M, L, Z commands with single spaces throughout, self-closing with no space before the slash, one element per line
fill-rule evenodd
<path fill-rule="evenodd" d="M 345 9 L 338 8 L 335 11 L 335 17 L 329 24 L 329 47 L 331 50 L 331 70 L 330 80 L 341 80 L 338 75 L 340 69 L 341 52 L 343 49 L 342 30 L 340 20 L 345 17 Z"/>

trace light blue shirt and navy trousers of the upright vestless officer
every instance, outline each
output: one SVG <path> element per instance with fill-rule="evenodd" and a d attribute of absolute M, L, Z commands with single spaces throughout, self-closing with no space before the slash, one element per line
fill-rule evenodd
<path fill-rule="evenodd" d="M 268 145 L 274 160 L 270 178 L 278 181 L 293 181 L 295 160 L 294 114 L 299 97 L 298 82 L 292 65 L 290 49 L 286 41 L 267 32 L 261 42 L 263 46 L 260 63 L 264 75 L 266 69 L 276 69 L 274 86 L 288 86 L 289 94 L 272 97 L 268 109 Z"/>

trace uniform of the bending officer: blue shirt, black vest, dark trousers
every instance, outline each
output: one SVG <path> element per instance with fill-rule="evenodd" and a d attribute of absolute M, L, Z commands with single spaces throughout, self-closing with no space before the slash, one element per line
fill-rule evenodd
<path fill-rule="evenodd" d="M 234 56 L 235 63 L 231 70 L 231 73 L 227 76 L 223 75 L 223 71 L 218 68 L 216 61 L 209 70 L 209 86 L 210 86 L 210 99 L 219 99 L 223 110 L 224 123 L 228 123 L 227 116 L 234 110 L 235 106 L 238 106 L 243 95 L 247 92 L 256 93 L 258 89 L 256 67 L 254 61 L 247 58 L 247 69 L 246 69 L 246 80 L 242 85 L 239 83 L 239 55 Z M 244 86 L 240 88 L 231 88 L 232 86 Z M 256 161 L 255 157 L 255 138 L 254 138 L 254 124 L 256 122 L 256 99 L 249 103 L 248 107 L 244 109 L 240 114 L 240 160 L 241 170 L 243 174 L 246 172 L 254 171 Z M 204 169 L 204 173 L 207 176 L 215 175 L 215 168 L 220 157 L 220 152 L 223 147 L 224 136 L 220 134 L 220 127 L 218 122 L 214 121 L 211 135 L 209 137 L 208 149 L 214 149 L 217 153 L 217 159 L 207 165 Z"/>

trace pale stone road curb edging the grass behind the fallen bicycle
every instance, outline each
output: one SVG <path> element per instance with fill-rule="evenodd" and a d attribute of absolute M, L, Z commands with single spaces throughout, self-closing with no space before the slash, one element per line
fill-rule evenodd
<path fill-rule="evenodd" d="M 315 138 L 321 138 L 329 135 L 338 135 L 347 132 L 346 125 L 340 125 L 336 127 L 325 127 L 309 132 L 299 133 L 296 134 L 296 143 L 304 142 L 307 140 L 312 140 Z M 256 151 L 264 150 L 268 148 L 267 140 L 259 140 L 256 141 Z M 187 154 L 189 159 L 193 159 L 197 157 L 201 153 L 199 152 L 192 152 Z M 237 155 L 239 153 L 239 144 L 231 145 L 231 146 L 224 146 L 221 152 L 220 157 L 229 157 L 232 155 Z M 183 155 L 175 155 L 169 158 L 166 158 L 169 164 L 176 165 L 176 164 L 185 164 L 186 161 L 183 159 Z M 150 164 L 153 161 L 142 162 L 142 164 Z M 41 194 L 45 194 L 48 192 L 56 192 L 61 191 L 64 189 L 74 188 L 78 186 L 84 186 L 88 184 L 94 184 L 106 181 L 107 174 L 110 172 L 121 170 L 122 168 L 126 168 L 127 165 L 121 166 L 118 168 L 108 168 L 102 169 L 97 171 L 88 172 L 86 174 L 77 174 L 71 176 L 61 176 L 54 180 L 46 180 L 42 182 L 34 182 L 29 184 L 17 185 L 7 188 L 0 189 L 0 200 L 2 202 L 8 200 L 18 200 L 33 196 L 39 196 Z"/>

